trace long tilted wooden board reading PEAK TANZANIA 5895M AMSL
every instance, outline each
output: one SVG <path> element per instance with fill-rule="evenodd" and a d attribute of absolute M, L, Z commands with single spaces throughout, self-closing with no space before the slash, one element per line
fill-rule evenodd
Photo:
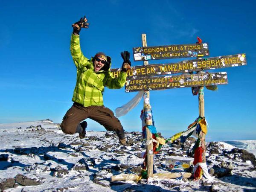
<path fill-rule="evenodd" d="M 211 58 L 180 61 L 178 63 L 140 65 L 131 67 L 131 69 L 127 71 L 127 79 L 236 67 L 246 64 L 246 55 L 245 53 L 241 53 L 236 55 L 224 55 Z M 112 69 L 111 72 L 113 77 L 118 77 L 121 69 Z"/>

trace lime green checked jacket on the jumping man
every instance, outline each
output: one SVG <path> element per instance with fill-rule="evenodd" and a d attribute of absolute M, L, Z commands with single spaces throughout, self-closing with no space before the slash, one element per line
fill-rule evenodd
<path fill-rule="evenodd" d="M 124 86 L 127 73 L 121 72 L 117 78 L 113 78 L 110 69 L 94 71 L 92 58 L 84 57 L 81 52 L 79 35 L 72 34 L 70 51 L 76 65 L 76 87 L 73 93 L 73 102 L 80 103 L 84 107 L 101 106 L 103 105 L 104 87 L 119 89 Z"/>

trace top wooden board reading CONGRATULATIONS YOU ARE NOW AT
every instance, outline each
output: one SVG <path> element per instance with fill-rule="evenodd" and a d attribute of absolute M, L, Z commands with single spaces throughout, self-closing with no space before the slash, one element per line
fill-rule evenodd
<path fill-rule="evenodd" d="M 209 56 L 208 44 L 164 45 L 134 47 L 134 61 Z"/>

